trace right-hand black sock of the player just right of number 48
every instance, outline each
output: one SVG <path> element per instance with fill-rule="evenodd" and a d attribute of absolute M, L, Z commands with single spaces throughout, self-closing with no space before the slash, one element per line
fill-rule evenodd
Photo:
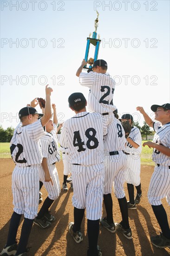
<path fill-rule="evenodd" d="M 126 197 L 124 198 L 118 198 L 118 203 L 122 215 L 122 226 L 124 229 L 129 229 L 129 217 L 128 217 L 128 208 L 127 208 L 127 200 Z"/>

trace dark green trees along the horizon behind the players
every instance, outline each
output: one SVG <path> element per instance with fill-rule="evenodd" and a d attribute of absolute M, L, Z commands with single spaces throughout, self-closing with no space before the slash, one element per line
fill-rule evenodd
<path fill-rule="evenodd" d="M 146 122 L 144 122 L 144 125 L 142 127 L 139 125 L 139 122 L 133 122 L 133 125 L 139 128 L 142 137 L 146 140 L 148 135 L 154 134 L 154 132 L 150 130 L 150 127 L 146 124 Z M 13 131 L 14 128 L 12 126 L 8 127 L 7 129 L 4 129 L 2 126 L 0 126 L 0 142 L 10 142 L 13 136 Z M 59 130 L 59 133 L 60 131 L 61 129 Z"/>

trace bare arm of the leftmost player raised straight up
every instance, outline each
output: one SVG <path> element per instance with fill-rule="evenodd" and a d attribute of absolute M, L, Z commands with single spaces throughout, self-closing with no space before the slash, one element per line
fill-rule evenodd
<path fill-rule="evenodd" d="M 45 106 L 45 113 L 43 117 L 41 118 L 41 123 L 42 126 L 44 127 L 46 123 L 50 120 L 52 117 L 52 107 L 51 107 L 51 93 L 52 93 L 52 88 L 48 87 L 46 85 L 46 106 Z"/>

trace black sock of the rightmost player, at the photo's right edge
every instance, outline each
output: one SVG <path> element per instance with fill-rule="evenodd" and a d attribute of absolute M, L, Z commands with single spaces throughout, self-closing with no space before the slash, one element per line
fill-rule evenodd
<path fill-rule="evenodd" d="M 153 212 L 157 218 L 157 222 L 162 230 L 163 236 L 170 239 L 170 227 L 168 224 L 168 218 L 163 205 L 151 205 Z"/>

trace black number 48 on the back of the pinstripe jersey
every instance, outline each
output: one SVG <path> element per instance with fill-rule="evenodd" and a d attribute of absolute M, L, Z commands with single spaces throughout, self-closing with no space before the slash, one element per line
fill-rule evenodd
<path fill-rule="evenodd" d="M 92 132 L 92 135 L 90 135 L 90 132 Z M 85 131 L 85 136 L 88 138 L 86 146 L 89 149 L 94 149 L 98 147 L 98 139 L 95 137 L 96 130 L 94 128 L 88 128 Z M 77 141 L 77 142 L 76 142 Z M 91 141 L 93 141 L 93 146 L 90 144 Z M 81 140 L 79 131 L 74 132 L 74 138 L 73 138 L 73 146 L 78 147 L 78 152 L 85 151 L 85 148 L 83 147 L 85 145 L 85 142 Z"/>

